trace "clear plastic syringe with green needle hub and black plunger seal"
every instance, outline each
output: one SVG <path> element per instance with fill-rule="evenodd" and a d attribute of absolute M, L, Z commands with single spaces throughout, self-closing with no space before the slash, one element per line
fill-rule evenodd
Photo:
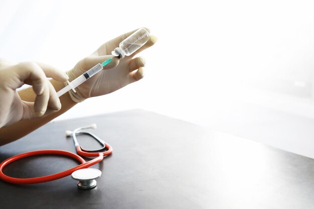
<path fill-rule="evenodd" d="M 95 65 L 94 67 L 92 67 L 91 69 L 89 69 L 88 71 L 86 71 L 85 73 L 83 73 L 82 75 L 74 79 L 73 81 L 71 81 L 71 83 L 67 81 L 68 85 L 57 92 L 58 97 L 62 96 L 63 94 L 65 94 L 71 89 L 75 93 L 76 92 L 75 88 L 77 86 L 81 85 L 82 83 L 84 83 L 84 81 L 86 81 L 87 79 L 89 79 L 90 77 L 98 73 L 99 71 L 101 71 L 104 66 L 106 66 L 108 63 L 112 61 L 112 59 L 113 58 L 110 58 L 104 61 L 103 63 L 98 63 L 97 65 Z"/>

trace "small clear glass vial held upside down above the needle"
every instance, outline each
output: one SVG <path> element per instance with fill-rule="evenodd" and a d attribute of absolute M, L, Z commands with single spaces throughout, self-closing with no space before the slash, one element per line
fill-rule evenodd
<path fill-rule="evenodd" d="M 124 58 L 124 56 L 130 56 L 136 50 L 141 48 L 149 40 L 149 32 L 140 28 L 135 31 L 132 35 L 123 40 L 118 48 L 115 48 L 111 54 L 119 59 Z"/>

